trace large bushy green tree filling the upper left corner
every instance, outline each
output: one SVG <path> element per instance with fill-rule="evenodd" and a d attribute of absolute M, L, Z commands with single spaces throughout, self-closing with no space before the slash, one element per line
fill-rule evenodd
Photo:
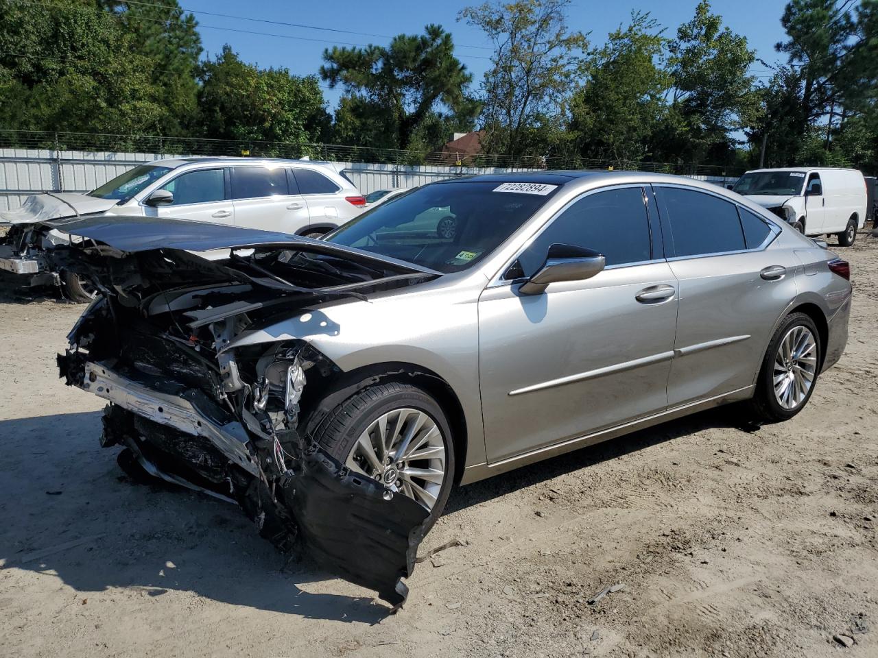
<path fill-rule="evenodd" d="M 155 64 L 117 18 L 88 0 L 0 0 L 0 15 L 0 125 L 133 134 L 168 120 Z"/>

